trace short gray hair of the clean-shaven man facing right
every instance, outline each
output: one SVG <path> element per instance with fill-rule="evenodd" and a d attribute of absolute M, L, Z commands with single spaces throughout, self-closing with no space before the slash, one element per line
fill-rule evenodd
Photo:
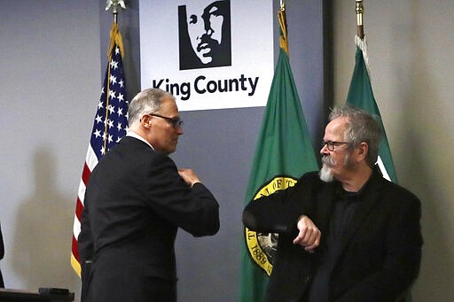
<path fill-rule="evenodd" d="M 129 103 L 128 122 L 129 126 L 135 125 L 142 114 L 155 113 L 160 111 L 160 105 L 164 98 L 170 98 L 175 101 L 175 97 L 171 93 L 162 89 L 145 89 L 137 93 Z"/>

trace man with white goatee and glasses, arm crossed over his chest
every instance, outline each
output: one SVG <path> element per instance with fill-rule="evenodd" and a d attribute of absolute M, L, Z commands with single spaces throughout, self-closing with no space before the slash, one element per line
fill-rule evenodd
<path fill-rule="evenodd" d="M 247 228 L 278 233 L 268 301 L 399 301 L 419 274 L 420 203 L 374 166 L 372 115 L 333 109 L 319 173 L 247 205 Z"/>

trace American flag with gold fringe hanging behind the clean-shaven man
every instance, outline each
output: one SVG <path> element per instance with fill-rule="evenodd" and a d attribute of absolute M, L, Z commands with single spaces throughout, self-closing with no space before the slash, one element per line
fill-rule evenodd
<path fill-rule="evenodd" d="M 126 135 L 128 127 L 128 104 L 123 74 L 121 35 L 116 24 L 111 29 L 111 47 L 109 65 L 106 70 L 104 85 L 99 97 L 98 110 L 91 130 L 90 144 L 82 170 L 82 179 L 79 184 L 77 202 L 75 205 L 73 245 L 71 265 L 77 275 L 81 275 L 79 253 L 77 251 L 77 237 L 81 232 L 81 215 L 85 186 L 93 168 L 99 159 L 109 151 L 122 136 Z"/>

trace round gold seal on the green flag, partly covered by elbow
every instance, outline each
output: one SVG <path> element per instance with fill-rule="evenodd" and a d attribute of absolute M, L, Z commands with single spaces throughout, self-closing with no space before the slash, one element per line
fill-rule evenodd
<path fill-rule="evenodd" d="M 253 200 L 262 196 L 269 196 L 278 190 L 285 190 L 289 187 L 293 187 L 296 182 L 296 179 L 289 176 L 276 176 L 258 190 Z M 276 249 L 278 247 L 278 234 L 257 233 L 249 228 L 245 228 L 245 236 L 247 250 L 252 259 L 254 259 L 254 262 L 259 267 L 262 267 L 267 275 L 271 275 Z"/>

